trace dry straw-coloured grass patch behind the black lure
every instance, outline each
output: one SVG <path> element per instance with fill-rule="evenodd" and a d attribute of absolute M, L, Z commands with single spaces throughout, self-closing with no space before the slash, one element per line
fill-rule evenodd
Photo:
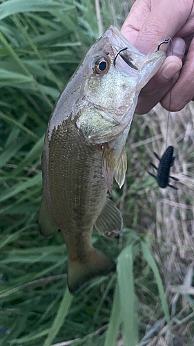
<path fill-rule="evenodd" d="M 148 334 L 153 329 L 153 336 L 147 339 L 148 343 L 144 337 L 138 345 L 193 345 L 194 104 L 190 102 L 182 111 L 170 113 L 167 141 L 168 111 L 160 104 L 145 116 L 135 117 L 131 131 L 137 133 L 138 127 L 141 140 L 138 138 L 134 141 L 133 134 L 128 138 L 128 179 L 133 176 L 135 181 L 130 189 L 124 190 L 120 203 L 123 206 L 134 194 L 139 194 L 137 205 L 143 211 L 142 217 L 137 220 L 137 232 L 146 232 L 155 240 L 153 255 L 163 278 L 172 321 L 171 335 L 162 323 L 156 332 L 155 326 L 159 321 L 149 320 Z M 145 172 L 153 171 L 149 162 L 158 165 L 153 152 L 162 156 L 168 145 L 173 145 L 175 149 L 171 175 L 179 179 L 177 191 L 160 189 L 157 182 Z M 142 149 L 145 151 L 144 161 L 139 162 L 139 151 Z M 149 181 L 153 184 L 149 184 Z M 175 182 L 171 181 L 171 184 L 175 185 Z M 137 185 L 145 185 L 145 188 L 138 190 Z M 122 340 L 118 345 L 122 345 Z"/>

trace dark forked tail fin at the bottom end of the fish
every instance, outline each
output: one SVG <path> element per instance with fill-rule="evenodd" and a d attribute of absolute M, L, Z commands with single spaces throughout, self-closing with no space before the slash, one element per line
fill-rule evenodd
<path fill-rule="evenodd" d="M 104 253 L 92 248 L 86 257 L 86 261 L 81 262 L 79 259 L 68 259 L 68 287 L 70 293 L 75 293 L 81 289 L 86 282 L 98 275 L 106 275 L 115 271 L 116 264 L 110 260 Z"/>

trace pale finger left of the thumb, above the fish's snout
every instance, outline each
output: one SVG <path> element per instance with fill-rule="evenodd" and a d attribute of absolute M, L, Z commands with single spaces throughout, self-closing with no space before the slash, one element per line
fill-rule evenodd
<path fill-rule="evenodd" d="M 136 0 L 124 21 L 121 33 L 131 44 L 135 44 L 139 30 L 151 11 L 151 0 Z"/>

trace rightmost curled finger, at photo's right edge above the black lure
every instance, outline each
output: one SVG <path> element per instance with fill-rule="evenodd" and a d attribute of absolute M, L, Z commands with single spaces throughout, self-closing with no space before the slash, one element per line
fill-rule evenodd
<path fill-rule="evenodd" d="M 186 55 L 186 62 L 182 67 L 180 78 L 161 101 L 162 106 L 169 110 L 169 99 L 171 98 L 171 111 L 180 111 L 192 100 L 194 96 L 194 39 Z"/>

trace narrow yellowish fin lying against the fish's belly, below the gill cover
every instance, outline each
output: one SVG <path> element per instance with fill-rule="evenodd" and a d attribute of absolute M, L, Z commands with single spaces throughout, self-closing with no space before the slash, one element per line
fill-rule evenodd
<path fill-rule="evenodd" d="M 103 149 L 104 150 L 102 154 L 102 175 L 104 176 L 104 180 L 106 182 L 106 185 L 108 186 L 109 192 L 111 192 L 113 188 L 113 179 L 115 171 L 115 154 L 113 149 L 108 148 L 107 143 L 104 143 Z"/>

